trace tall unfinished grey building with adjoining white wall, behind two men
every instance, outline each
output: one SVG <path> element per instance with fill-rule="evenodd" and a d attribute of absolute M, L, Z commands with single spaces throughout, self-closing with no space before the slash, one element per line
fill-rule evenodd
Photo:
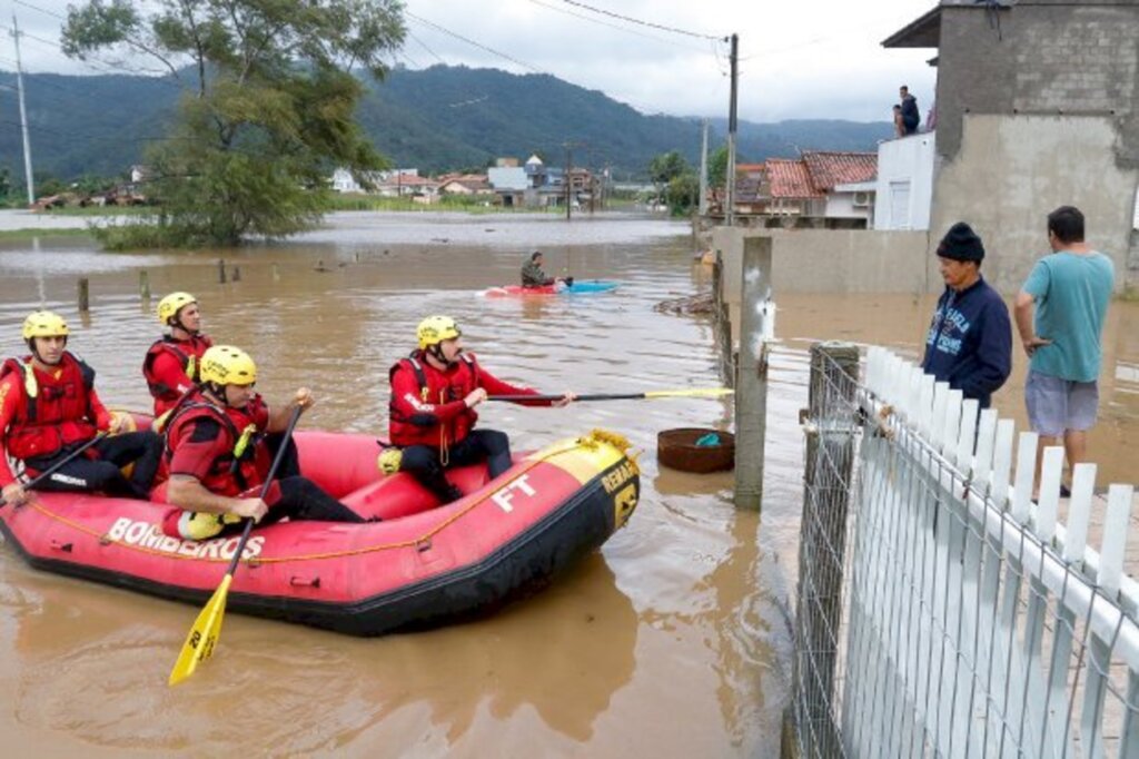
<path fill-rule="evenodd" d="M 1072 204 L 1116 284 L 1139 280 L 1139 3 L 943 0 L 883 46 L 935 49 L 937 82 L 936 132 L 880 146 L 879 228 L 928 229 L 932 246 L 968 221 L 1009 292 L 1048 250 L 1044 217 Z"/>

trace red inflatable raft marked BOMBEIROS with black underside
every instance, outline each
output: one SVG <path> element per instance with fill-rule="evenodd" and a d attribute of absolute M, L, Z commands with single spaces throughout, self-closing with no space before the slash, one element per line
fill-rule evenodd
<path fill-rule="evenodd" d="M 451 473 L 468 493 L 443 507 L 405 474 L 380 479 L 367 435 L 298 432 L 304 474 L 382 522 L 285 522 L 255 529 L 227 607 L 351 635 L 433 627 L 483 613 L 596 550 L 632 514 L 640 481 L 628 443 L 595 431 L 519 456 L 493 482 Z M 238 536 L 179 540 L 166 506 L 100 495 L 35 493 L 0 529 L 41 570 L 202 603 Z"/>

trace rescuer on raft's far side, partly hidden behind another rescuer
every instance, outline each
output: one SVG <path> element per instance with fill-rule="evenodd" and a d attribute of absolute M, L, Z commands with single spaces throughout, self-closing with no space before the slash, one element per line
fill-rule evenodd
<path fill-rule="evenodd" d="M 154 397 L 154 415 L 162 416 L 198 381 L 202 354 L 213 345 L 202 334 L 202 311 L 189 293 L 171 293 L 158 301 L 158 323 L 170 327 L 146 352 L 142 376 Z"/>

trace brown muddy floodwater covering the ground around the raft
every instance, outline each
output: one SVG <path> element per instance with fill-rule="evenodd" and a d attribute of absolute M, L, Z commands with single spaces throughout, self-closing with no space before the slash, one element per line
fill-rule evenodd
<path fill-rule="evenodd" d="M 540 248 L 547 271 L 615 279 L 613 293 L 486 299 Z M 227 284 L 219 283 L 224 259 Z M 313 389 L 308 427 L 386 431 L 387 370 L 431 313 L 453 316 L 499 376 L 547 392 L 715 386 L 712 324 L 658 313 L 710 286 L 685 223 L 634 217 L 338 214 L 328 228 L 241 251 L 105 254 L 75 238 L 0 247 L 0 348 L 47 305 L 116 408 L 146 408 L 139 367 L 157 297 L 195 293 L 216 342 L 246 348 L 270 403 Z M 239 269 L 235 281 L 233 269 Z M 154 292 L 140 301 L 139 272 Z M 89 277 L 91 311 L 75 307 Z M 916 356 L 932 297 L 778 297 L 764 511 L 737 513 L 731 475 L 656 463 L 656 435 L 728 429 L 730 401 L 565 409 L 485 405 L 516 449 L 603 427 L 644 450 L 642 498 L 603 550 L 494 617 L 350 638 L 227 614 L 214 659 L 166 676 L 197 607 L 30 570 L 0 546 L 0 743 L 6 756 L 768 757 L 790 676 L 806 350 L 877 342 Z M 1132 481 L 1139 308 L 1113 303 L 1091 454 Z M 997 403 L 1023 418 L 1024 360 Z"/>

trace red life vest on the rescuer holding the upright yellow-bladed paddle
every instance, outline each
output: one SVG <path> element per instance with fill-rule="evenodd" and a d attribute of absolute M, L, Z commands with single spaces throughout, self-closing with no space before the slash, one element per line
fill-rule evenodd
<path fill-rule="evenodd" d="M 261 484 L 271 465 L 269 449 L 262 444 L 264 430 L 256 430 L 244 451 L 237 450 L 237 444 L 247 427 L 255 427 L 254 419 L 265 418 L 267 414 L 261 395 L 255 395 L 244 409 L 222 408 L 200 394 L 192 395 L 166 427 L 166 465 L 170 466 L 174 457 L 171 441 L 181 440 L 183 427 L 195 419 L 210 418 L 221 426 L 221 436 L 212 446 L 214 458 L 202 485 L 219 496 L 237 496 Z"/>

